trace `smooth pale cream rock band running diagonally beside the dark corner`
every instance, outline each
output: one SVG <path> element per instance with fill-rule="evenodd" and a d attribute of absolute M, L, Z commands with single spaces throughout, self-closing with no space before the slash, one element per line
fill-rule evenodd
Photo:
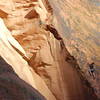
<path fill-rule="evenodd" d="M 27 62 L 19 55 L 19 53 L 12 47 L 11 42 L 8 41 L 9 31 L 4 26 L 3 20 L 0 19 L 2 30 L 0 32 L 0 56 L 10 64 L 17 75 L 26 81 L 28 84 L 36 88 L 43 94 L 47 100 L 56 100 L 51 91 L 46 86 L 45 82 L 28 66 Z M 4 28 L 3 28 L 4 27 Z M 6 32 L 6 34 L 5 34 Z M 7 35 L 8 34 L 8 35 Z M 11 43 L 11 44 L 10 44 Z M 15 44 L 15 43 L 14 43 Z M 15 45 L 13 45 L 15 46 Z M 20 45 L 18 45 L 20 46 Z M 21 46 L 20 46 L 21 47 Z"/>

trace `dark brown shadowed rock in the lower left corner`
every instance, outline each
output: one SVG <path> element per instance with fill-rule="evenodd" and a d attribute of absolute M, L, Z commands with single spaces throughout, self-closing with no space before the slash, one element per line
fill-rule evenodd
<path fill-rule="evenodd" d="M 0 56 L 0 100 L 46 100 Z"/>

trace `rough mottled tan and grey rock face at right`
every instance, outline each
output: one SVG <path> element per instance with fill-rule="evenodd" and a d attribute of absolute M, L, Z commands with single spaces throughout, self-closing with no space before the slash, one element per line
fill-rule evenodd
<path fill-rule="evenodd" d="M 100 0 L 48 1 L 53 8 L 54 26 L 100 97 Z M 95 63 L 95 80 L 88 73 L 88 64 L 92 62 Z"/>

